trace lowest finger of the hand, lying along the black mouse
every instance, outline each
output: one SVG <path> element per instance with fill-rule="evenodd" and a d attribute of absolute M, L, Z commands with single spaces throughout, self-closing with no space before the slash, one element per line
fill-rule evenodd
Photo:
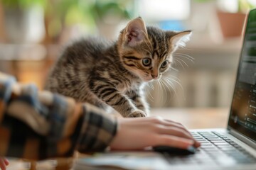
<path fill-rule="evenodd" d="M 187 149 L 194 144 L 193 140 L 188 140 L 183 137 L 176 137 L 171 135 L 159 135 L 154 146 L 169 146 Z"/>

